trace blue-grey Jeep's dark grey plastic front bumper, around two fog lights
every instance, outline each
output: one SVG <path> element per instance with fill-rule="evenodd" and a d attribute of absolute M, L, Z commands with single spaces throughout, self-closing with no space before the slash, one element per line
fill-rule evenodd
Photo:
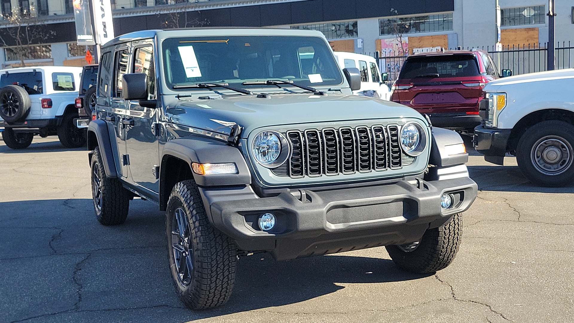
<path fill-rule="evenodd" d="M 235 192 L 201 189 L 201 194 L 212 224 L 235 240 L 239 249 L 269 251 L 277 260 L 288 260 L 418 241 L 426 229 L 467 210 L 476 190 L 476 183 L 464 177 L 296 190 L 267 198 L 251 194 L 250 187 Z M 440 207 L 444 193 L 455 196 L 451 209 Z M 258 228 L 264 213 L 277 218 L 270 232 Z"/>

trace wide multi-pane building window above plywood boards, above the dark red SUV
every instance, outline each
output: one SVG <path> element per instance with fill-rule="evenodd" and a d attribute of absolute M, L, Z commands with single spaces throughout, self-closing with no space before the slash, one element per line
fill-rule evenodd
<path fill-rule="evenodd" d="M 452 30 L 452 13 L 379 19 L 381 35 L 442 32 Z"/>

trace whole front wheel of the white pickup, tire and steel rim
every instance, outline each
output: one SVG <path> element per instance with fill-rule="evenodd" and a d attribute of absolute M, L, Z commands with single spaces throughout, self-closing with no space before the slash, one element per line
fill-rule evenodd
<path fill-rule="evenodd" d="M 564 121 L 542 121 L 518 141 L 516 161 L 533 184 L 564 186 L 574 179 L 574 126 Z"/>

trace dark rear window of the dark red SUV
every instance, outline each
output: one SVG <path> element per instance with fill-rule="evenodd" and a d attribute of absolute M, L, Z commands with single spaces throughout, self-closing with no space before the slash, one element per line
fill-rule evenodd
<path fill-rule="evenodd" d="M 429 55 L 406 60 L 399 79 L 424 80 L 479 75 L 476 59 L 472 55 Z"/>

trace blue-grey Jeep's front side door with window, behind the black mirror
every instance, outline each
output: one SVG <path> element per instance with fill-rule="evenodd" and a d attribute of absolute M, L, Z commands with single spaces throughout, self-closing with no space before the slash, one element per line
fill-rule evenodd
<path fill-rule="evenodd" d="M 133 72 L 148 75 L 148 99 L 156 99 L 155 66 L 151 41 L 133 43 Z M 131 122 L 127 132 L 127 153 L 130 156 L 130 174 L 133 181 L 154 192 L 159 192 L 158 137 L 155 127 L 158 109 L 142 107 L 138 101 L 126 101 L 129 106 L 128 119 Z"/>

